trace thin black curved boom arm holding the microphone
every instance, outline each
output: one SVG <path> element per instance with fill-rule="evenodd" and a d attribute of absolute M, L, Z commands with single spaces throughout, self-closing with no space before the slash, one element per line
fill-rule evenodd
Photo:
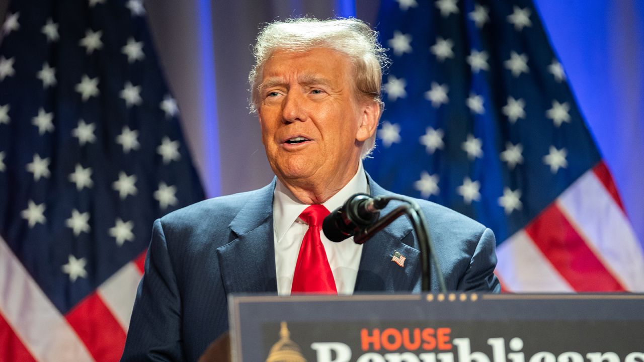
<path fill-rule="evenodd" d="M 367 240 L 372 238 L 374 234 L 383 230 L 389 224 L 392 224 L 392 222 L 397 218 L 399 218 L 401 215 L 406 214 L 410 222 L 412 223 L 413 231 L 415 231 L 416 233 L 416 236 L 418 238 L 419 248 L 421 251 L 422 291 L 424 292 L 430 291 L 430 280 L 428 276 L 429 276 L 429 269 L 430 269 L 429 258 L 431 258 L 431 261 L 434 264 L 434 268 L 436 272 L 436 279 L 439 282 L 440 292 L 443 292 L 443 293 L 446 292 L 447 288 L 445 287 L 445 280 L 443 278 L 442 272 L 440 271 L 438 259 L 436 257 L 436 253 L 433 250 L 433 244 L 431 243 L 430 234 L 427 231 L 425 218 L 424 218 L 424 215 L 422 214 L 420 207 L 411 200 L 407 200 L 405 198 L 401 198 L 397 196 L 379 197 L 379 201 L 382 202 L 385 200 L 386 202 L 390 200 L 398 200 L 398 201 L 404 202 L 405 204 L 400 205 L 399 207 L 396 207 L 395 209 L 393 209 L 391 213 L 386 214 L 385 216 L 380 218 L 377 222 L 375 222 L 373 225 L 370 225 L 365 229 L 363 229 L 360 233 L 355 234 L 354 242 L 358 244 L 365 243 Z M 386 204 L 386 202 L 384 202 L 384 204 Z"/>

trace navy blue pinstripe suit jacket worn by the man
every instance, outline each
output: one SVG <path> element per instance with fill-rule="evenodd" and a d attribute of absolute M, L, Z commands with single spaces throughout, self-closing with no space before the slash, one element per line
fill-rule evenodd
<path fill-rule="evenodd" d="M 368 181 L 372 195 L 392 195 Z M 122 361 L 196 361 L 228 329 L 228 294 L 277 292 L 274 188 L 275 180 L 156 220 Z M 416 201 L 447 288 L 498 292 L 492 231 L 446 207 Z M 382 214 L 396 206 L 392 202 Z M 404 267 L 391 262 L 394 251 L 406 257 Z M 412 225 L 397 219 L 365 243 L 355 292 L 420 292 L 419 253 Z M 438 291 L 430 268 L 431 289 Z"/>

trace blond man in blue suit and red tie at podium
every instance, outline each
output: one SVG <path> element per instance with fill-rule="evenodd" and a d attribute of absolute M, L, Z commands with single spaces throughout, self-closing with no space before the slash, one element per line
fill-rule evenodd
<path fill-rule="evenodd" d="M 376 34 L 356 19 L 269 24 L 254 49 L 251 109 L 276 179 L 156 220 L 123 360 L 196 360 L 228 329 L 234 292 L 419 292 L 419 247 L 400 218 L 364 245 L 319 222 L 354 193 L 391 195 L 366 175 L 382 111 Z M 425 200 L 450 290 L 498 291 L 494 235 Z M 395 207 L 391 205 L 383 214 Z M 393 263 L 394 252 L 406 260 Z M 437 290 L 437 280 L 431 278 Z"/>

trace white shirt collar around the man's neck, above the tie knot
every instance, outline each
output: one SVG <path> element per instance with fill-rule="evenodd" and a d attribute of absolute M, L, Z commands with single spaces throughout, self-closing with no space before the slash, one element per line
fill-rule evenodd
<path fill-rule="evenodd" d="M 353 178 L 336 195 L 331 196 L 323 205 L 328 211 L 334 211 L 343 205 L 351 195 L 356 193 L 368 193 L 368 183 L 365 169 L 362 162 Z M 273 193 L 273 228 L 276 242 L 280 242 L 290 226 L 298 220 L 301 214 L 309 205 L 300 202 L 290 190 L 282 184 L 279 179 Z"/>

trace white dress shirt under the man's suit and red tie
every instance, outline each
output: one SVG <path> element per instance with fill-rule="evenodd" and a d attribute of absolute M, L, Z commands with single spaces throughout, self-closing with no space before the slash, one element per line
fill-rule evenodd
<path fill-rule="evenodd" d="M 362 162 L 354 177 L 340 191 L 323 203 L 328 211 L 334 211 L 343 205 L 355 193 L 368 193 L 365 170 Z M 309 205 L 302 204 L 279 180 L 273 194 L 273 232 L 275 243 L 275 269 L 278 282 L 278 294 L 290 295 L 293 273 L 298 262 L 299 247 L 302 245 L 308 225 L 300 218 Z M 348 238 L 339 243 L 327 239 L 320 231 L 320 239 L 327 252 L 328 263 L 336 281 L 337 294 L 352 294 L 355 278 L 360 266 L 362 246 Z"/>

